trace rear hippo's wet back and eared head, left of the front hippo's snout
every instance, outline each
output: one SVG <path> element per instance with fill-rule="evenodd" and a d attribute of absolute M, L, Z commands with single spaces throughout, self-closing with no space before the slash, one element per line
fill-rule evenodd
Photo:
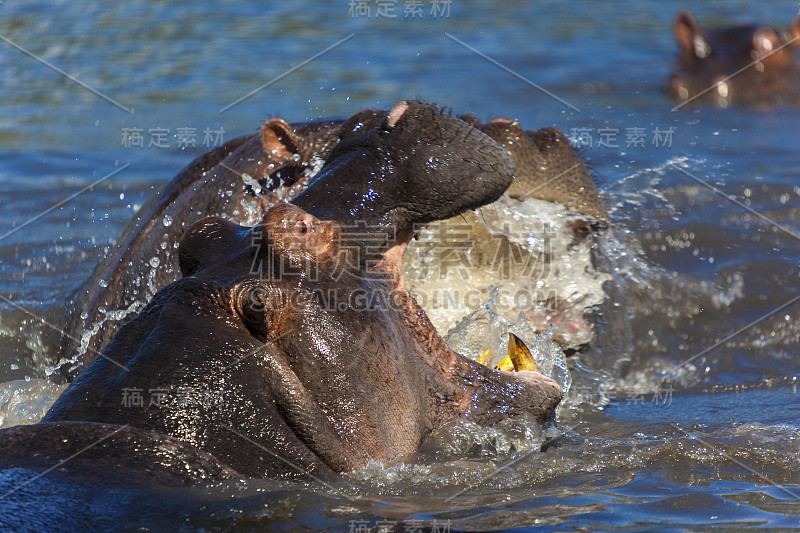
<path fill-rule="evenodd" d="M 175 247 L 194 222 L 219 215 L 256 223 L 271 203 L 307 185 L 310 170 L 338 140 L 341 123 L 293 127 L 268 120 L 260 135 L 237 137 L 202 154 L 153 195 L 67 308 L 62 352 L 76 355 L 64 377 L 74 378 L 120 325 L 178 279 Z"/>

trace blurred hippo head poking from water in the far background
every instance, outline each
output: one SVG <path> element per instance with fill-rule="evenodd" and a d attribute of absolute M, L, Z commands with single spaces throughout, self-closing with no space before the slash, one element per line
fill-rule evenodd
<path fill-rule="evenodd" d="M 664 90 L 676 104 L 800 105 L 800 15 L 788 32 L 755 24 L 703 30 L 684 9 L 673 33 L 678 58 Z"/>

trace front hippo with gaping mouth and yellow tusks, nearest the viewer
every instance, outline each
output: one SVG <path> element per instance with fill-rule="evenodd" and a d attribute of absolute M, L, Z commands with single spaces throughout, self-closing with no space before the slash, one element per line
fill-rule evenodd
<path fill-rule="evenodd" d="M 509 154 L 419 102 L 357 114 L 339 138 L 308 188 L 258 224 L 193 224 L 178 246 L 182 277 L 42 422 L 0 431 L 0 466 L 47 472 L 91 444 L 71 474 L 318 479 L 413 458 L 458 421 L 549 419 L 562 396 L 553 380 L 451 350 L 400 276 L 419 224 L 505 191 Z M 143 392 L 148 402 L 130 401 Z"/>

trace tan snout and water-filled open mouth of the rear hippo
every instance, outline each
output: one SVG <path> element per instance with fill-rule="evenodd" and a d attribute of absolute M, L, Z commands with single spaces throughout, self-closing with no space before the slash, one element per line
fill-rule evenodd
<path fill-rule="evenodd" d="M 608 279 L 592 264 L 594 230 L 609 217 L 586 164 L 556 128 L 461 118 L 511 155 L 510 198 L 431 225 L 410 247 L 406 283 L 443 334 L 497 287 L 495 311 L 509 323 L 522 313 L 537 331 L 552 325 L 565 350 L 581 349 L 593 338 L 584 312 L 603 302 Z"/>

